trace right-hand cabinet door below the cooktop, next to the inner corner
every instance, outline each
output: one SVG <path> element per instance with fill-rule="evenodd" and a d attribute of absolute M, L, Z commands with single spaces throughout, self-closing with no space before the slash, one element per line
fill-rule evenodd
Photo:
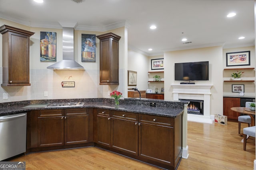
<path fill-rule="evenodd" d="M 88 142 L 88 115 L 65 116 L 65 145 Z"/>

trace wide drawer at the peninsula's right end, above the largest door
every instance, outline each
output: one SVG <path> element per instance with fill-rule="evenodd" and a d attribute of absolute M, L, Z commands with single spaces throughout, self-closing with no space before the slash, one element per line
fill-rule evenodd
<path fill-rule="evenodd" d="M 139 122 L 142 122 L 142 123 L 151 123 L 151 124 L 173 127 L 173 122 L 174 122 L 173 119 L 174 118 L 172 117 L 139 114 Z"/>

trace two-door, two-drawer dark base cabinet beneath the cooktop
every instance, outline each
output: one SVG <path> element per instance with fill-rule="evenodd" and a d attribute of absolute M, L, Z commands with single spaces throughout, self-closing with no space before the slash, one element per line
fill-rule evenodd
<path fill-rule="evenodd" d="M 92 146 L 90 108 L 28 111 L 27 152 Z"/>

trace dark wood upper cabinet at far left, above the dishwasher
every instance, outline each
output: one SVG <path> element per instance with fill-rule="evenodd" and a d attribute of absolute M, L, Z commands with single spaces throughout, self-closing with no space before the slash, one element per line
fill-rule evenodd
<path fill-rule="evenodd" d="M 33 32 L 2 25 L 3 83 L 1 86 L 30 86 L 29 48 Z"/>

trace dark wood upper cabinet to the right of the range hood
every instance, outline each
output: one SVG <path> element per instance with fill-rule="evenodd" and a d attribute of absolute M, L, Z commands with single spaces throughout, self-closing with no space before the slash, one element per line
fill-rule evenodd
<path fill-rule="evenodd" d="M 100 39 L 100 85 L 119 84 L 119 40 L 120 36 L 106 33 Z"/>

